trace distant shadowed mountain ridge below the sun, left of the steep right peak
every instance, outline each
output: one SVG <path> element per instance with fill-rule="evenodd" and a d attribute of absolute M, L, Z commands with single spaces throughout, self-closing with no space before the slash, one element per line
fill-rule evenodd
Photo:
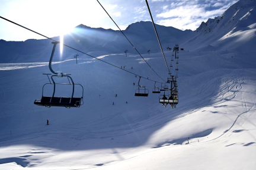
<path fill-rule="evenodd" d="M 164 27 L 162 25 L 156 25 L 156 28 L 159 31 L 159 37 L 161 37 L 164 48 L 171 44 L 183 42 L 186 36 L 192 32 L 191 30 L 181 31 L 173 27 Z M 140 53 L 145 54 L 148 50 L 151 50 L 151 53 L 161 51 L 155 36 L 155 31 L 152 27 L 152 22 L 136 22 L 129 25 L 123 32 Z M 60 40 L 59 37 L 53 37 L 53 39 Z M 24 42 L 0 40 L 0 62 L 20 63 L 21 61 L 47 61 L 52 51 L 49 42 L 50 40 L 27 40 Z M 103 51 L 104 54 L 116 54 L 124 53 L 125 50 L 128 50 L 131 54 L 137 54 L 120 31 L 91 28 L 82 24 L 74 28 L 70 34 L 64 35 L 64 44 L 70 45 L 85 53 L 97 51 L 98 54 L 99 51 Z M 73 50 L 64 48 L 61 58 L 57 54 L 55 61 L 70 59 L 71 56 L 73 57 L 73 54 L 76 54 Z"/>

